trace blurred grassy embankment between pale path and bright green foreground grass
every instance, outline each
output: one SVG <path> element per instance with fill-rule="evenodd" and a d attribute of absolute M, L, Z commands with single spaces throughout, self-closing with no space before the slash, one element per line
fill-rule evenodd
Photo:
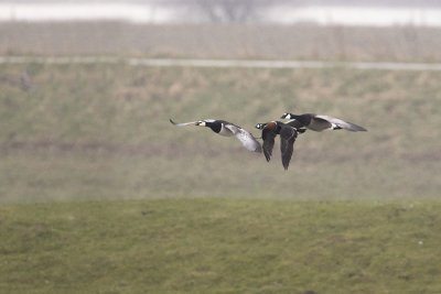
<path fill-rule="evenodd" d="M 159 197 L 438 198 L 440 73 L 4 65 L 3 203 Z M 7 79 L 3 79 L 7 80 Z M 257 122 L 316 111 L 369 131 L 306 132 L 290 170 L 169 118 Z M 316 178 L 320 178 L 318 181 Z"/>

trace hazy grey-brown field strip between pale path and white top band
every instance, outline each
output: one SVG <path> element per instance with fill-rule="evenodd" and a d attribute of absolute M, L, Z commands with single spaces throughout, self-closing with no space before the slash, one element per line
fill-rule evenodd
<path fill-rule="evenodd" d="M 0 23 L 1 55 L 440 62 L 439 28 Z"/>

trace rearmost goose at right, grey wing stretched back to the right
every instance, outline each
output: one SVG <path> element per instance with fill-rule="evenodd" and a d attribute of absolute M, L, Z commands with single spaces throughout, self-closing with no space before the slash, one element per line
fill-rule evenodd
<path fill-rule="evenodd" d="M 302 128 L 321 132 L 324 130 L 347 130 L 352 132 L 367 131 L 365 128 L 359 127 L 355 123 L 351 123 L 337 118 L 330 116 L 315 115 L 315 113 L 304 113 L 304 115 L 292 115 L 283 113 L 281 119 L 294 119 L 294 127 Z"/>

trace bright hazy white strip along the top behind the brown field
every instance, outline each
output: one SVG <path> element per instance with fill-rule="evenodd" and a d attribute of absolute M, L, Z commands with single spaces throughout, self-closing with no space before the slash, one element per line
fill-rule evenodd
<path fill-rule="evenodd" d="M 3 21 L 440 25 L 435 0 L 95 0 L 1 2 Z"/>

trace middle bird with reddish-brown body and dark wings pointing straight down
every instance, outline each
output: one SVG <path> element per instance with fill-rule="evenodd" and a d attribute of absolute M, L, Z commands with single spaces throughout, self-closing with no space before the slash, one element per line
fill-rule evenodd
<path fill-rule="evenodd" d="M 256 128 L 262 131 L 263 154 L 268 162 L 271 160 L 275 139 L 278 134 L 280 135 L 282 165 L 284 170 L 288 170 L 294 150 L 295 139 L 299 133 L 305 132 L 305 129 L 297 129 L 291 123 L 283 123 L 281 121 L 258 123 Z"/>

